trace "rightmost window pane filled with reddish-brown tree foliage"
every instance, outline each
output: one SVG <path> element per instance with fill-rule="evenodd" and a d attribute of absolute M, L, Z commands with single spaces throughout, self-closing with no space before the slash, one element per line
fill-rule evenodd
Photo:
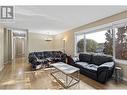
<path fill-rule="evenodd" d="M 127 28 L 115 29 L 115 57 L 116 59 L 127 60 Z"/>

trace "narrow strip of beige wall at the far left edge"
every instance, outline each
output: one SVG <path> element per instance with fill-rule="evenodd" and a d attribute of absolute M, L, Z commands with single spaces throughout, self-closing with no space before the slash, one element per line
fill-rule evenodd
<path fill-rule="evenodd" d="M 4 62 L 3 62 L 3 51 L 4 51 L 4 33 L 3 33 L 3 26 L 0 24 L 0 70 L 4 67 Z"/>

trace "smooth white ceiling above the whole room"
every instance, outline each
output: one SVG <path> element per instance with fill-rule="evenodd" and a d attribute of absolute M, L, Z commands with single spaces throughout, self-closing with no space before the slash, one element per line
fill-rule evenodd
<path fill-rule="evenodd" d="M 16 6 L 15 22 L 7 26 L 55 35 L 125 10 L 127 6 Z"/>

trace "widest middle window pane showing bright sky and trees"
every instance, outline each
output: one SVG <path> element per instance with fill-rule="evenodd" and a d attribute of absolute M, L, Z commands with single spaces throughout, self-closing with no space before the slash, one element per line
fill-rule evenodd
<path fill-rule="evenodd" d="M 110 30 L 103 30 L 86 34 L 86 51 L 94 53 L 113 54 L 113 33 Z"/>

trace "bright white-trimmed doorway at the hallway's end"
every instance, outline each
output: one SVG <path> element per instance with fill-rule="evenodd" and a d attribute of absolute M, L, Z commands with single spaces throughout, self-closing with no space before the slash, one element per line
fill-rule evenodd
<path fill-rule="evenodd" d="M 27 31 L 13 30 L 12 33 L 12 60 L 15 58 L 27 58 Z"/>

